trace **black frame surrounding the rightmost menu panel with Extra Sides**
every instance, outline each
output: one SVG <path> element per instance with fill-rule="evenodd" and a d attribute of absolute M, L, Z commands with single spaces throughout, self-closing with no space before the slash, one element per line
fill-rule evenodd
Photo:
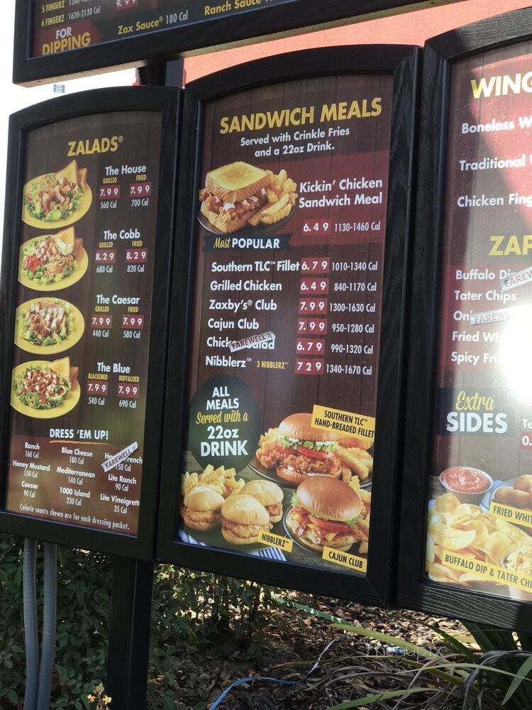
<path fill-rule="evenodd" d="M 425 558 L 453 65 L 486 50 L 530 40 L 531 26 L 532 10 L 519 10 L 438 35 L 424 49 L 397 589 L 400 607 L 526 632 L 532 631 L 530 603 L 429 581 Z"/>

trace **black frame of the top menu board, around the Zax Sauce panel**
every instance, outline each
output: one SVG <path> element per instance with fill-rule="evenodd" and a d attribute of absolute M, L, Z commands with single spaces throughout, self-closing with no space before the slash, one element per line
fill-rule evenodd
<path fill-rule="evenodd" d="M 176 58 L 201 48 L 227 48 L 251 40 L 274 38 L 304 28 L 348 23 L 381 15 L 448 4 L 456 0 L 287 0 L 286 6 L 251 8 L 144 34 L 127 34 L 82 49 L 33 57 L 34 0 L 16 0 L 13 82 L 32 85 L 104 67 L 139 65 L 154 58 Z M 353 7 L 356 4 L 356 9 Z M 221 4 L 220 4 L 221 5 Z"/>

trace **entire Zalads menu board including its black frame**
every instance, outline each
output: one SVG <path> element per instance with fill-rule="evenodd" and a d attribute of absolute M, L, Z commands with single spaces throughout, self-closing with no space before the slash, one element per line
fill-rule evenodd
<path fill-rule="evenodd" d="M 158 477 L 147 422 L 161 419 L 164 385 L 151 363 L 164 357 L 167 304 L 155 255 L 170 251 L 171 226 L 162 143 L 166 130 L 176 144 L 177 110 L 177 92 L 148 92 L 150 110 L 143 89 L 90 92 L 41 105 L 43 125 L 25 126 L 4 239 L 0 513 L 5 530 L 89 549 L 111 535 L 120 554 L 146 557 Z M 89 114 L 62 114 L 87 99 Z"/>

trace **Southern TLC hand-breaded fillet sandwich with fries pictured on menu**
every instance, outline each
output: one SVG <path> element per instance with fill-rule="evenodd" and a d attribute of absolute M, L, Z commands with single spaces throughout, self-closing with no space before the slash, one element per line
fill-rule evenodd
<path fill-rule="evenodd" d="M 255 458 L 265 469 L 274 470 L 284 481 L 299 485 L 309 476 L 331 476 L 347 482 L 360 480 L 373 466 L 367 453 L 370 442 L 339 432 L 325 432 L 311 425 L 310 413 L 289 415 L 260 438 Z"/>

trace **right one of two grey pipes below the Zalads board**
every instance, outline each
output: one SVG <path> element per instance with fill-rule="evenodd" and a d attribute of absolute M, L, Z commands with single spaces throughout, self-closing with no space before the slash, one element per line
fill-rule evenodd
<path fill-rule="evenodd" d="M 48 710 L 55 662 L 57 630 L 57 545 L 45 543 L 43 646 L 36 710 Z"/>

